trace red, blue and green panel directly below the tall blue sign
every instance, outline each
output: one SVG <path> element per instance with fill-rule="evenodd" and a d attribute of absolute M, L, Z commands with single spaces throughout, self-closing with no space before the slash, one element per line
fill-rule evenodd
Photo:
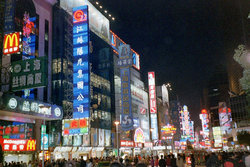
<path fill-rule="evenodd" d="M 62 121 L 62 135 L 83 135 L 88 133 L 88 118 L 64 119 Z"/>

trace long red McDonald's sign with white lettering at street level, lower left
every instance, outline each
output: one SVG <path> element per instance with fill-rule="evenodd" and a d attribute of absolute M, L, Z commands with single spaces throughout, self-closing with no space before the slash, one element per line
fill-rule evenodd
<path fill-rule="evenodd" d="M 35 151 L 36 140 L 34 139 L 0 139 L 3 151 Z"/>

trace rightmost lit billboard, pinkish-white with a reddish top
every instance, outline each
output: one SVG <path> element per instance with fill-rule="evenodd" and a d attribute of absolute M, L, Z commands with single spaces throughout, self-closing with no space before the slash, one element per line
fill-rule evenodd
<path fill-rule="evenodd" d="M 232 133 L 232 115 L 231 109 L 226 106 L 225 102 L 219 103 L 219 119 L 223 135 Z"/>

